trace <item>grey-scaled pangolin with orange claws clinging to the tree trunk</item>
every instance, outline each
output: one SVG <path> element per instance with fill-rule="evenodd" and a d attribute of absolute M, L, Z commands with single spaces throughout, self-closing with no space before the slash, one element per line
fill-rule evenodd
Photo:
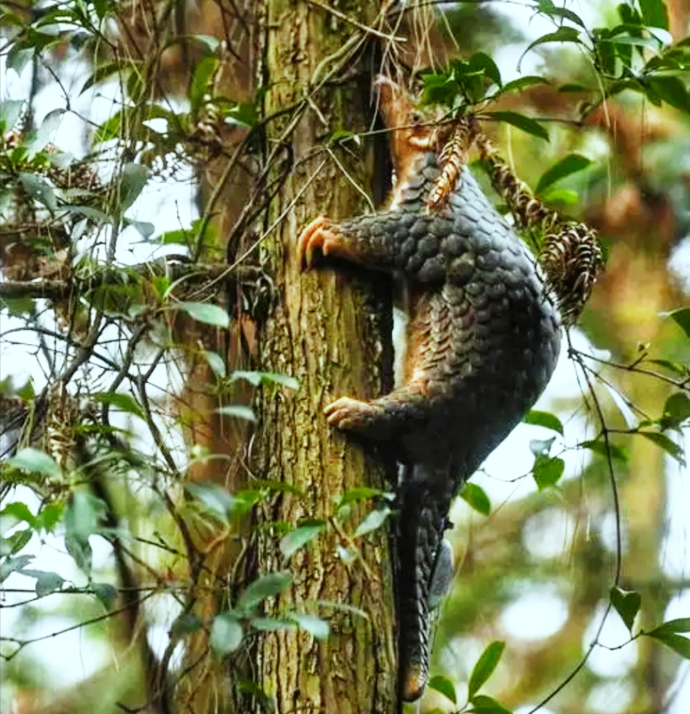
<path fill-rule="evenodd" d="M 443 545 L 451 498 L 544 390 L 561 318 L 536 259 L 466 166 L 429 209 L 442 173 L 439 129 L 419 124 L 399 86 L 377 84 L 396 171 L 389 208 L 340 223 L 316 218 L 299 258 L 311 265 L 326 253 L 406 281 L 405 383 L 369 402 L 340 398 L 326 413 L 332 426 L 391 443 L 404 464 L 399 660 L 401 697 L 415 700 L 429 673 L 429 597 L 438 599 L 436 580 L 451 567 Z"/>

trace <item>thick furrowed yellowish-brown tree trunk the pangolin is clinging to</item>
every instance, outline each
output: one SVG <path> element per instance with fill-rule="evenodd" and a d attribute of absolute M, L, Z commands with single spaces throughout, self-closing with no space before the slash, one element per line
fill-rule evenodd
<path fill-rule="evenodd" d="M 374 5 L 362 1 L 339 9 L 362 21 L 374 16 Z M 269 0 L 266 10 L 266 111 L 271 114 L 306 96 L 316 66 L 341 48 L 353 28 L 306 2 Z M 288 139 L 296 168 L 272 220 L 311 183 L 266 243 L 277 306 L 261 344 L 264 369 L 294 375 L 300 386 L 296 392 L 264 391 L 256 451 L 264 478 L 296 486 L 301 495 L 286 491 L 259 512 L 256 563 L 261 574 L 289 569 L 293 575 L 291 588 L 266 603 L 268 615 L 312 613 L 331 628 L 321 641 L 304 630 L 259 633 L 256 679 L 281 713 L 390 714 L 395 707 L 394 597 L 386 529 L 352 540 L 347 534 L 354 533 L 371 501 L 354 503 L 349 518 L 342 511 L 336 514 L 334 506 L 351 488 L 385 488 L 384 468 L 371 450 L 329 428 L 322 414 L 341 395 L 371 398 L 390 386 L 390 286 L 379 276 L 346 266 L 302 273 L 296 263 L 296 236 L 311 218 L 364 209 L 361 194 L 336 162 L 323 151 L 314 154 L 335 129 L 365 128 L 371 84 L 362 72 L 359 84 L 326 84 L 313 98 L 319 110 L 306 109 Z M 269 138 L 281 136 L 292 116 L 271 124 Z M 368 187 L 366 162 L 336 153 L 349 176 Z M 305 161 L 309 154 L 313 158 Z M 285 563 L 280 533 L 270 524 L 295 526 L 305 518 L 325 521 L 326 529 Z M 359 548 L 361 558 L 345 565 L 338 546 Z M 361 614 L 337 605 L 358 608 Z"/>

